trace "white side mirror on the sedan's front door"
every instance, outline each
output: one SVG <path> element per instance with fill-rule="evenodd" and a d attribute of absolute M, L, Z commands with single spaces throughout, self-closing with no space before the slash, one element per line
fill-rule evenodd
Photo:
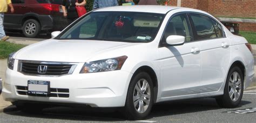
<path fill-rule="evenodd" d="M 169 45 L 183 45 L 185 42 L 184 36 L 172 35 L 166 38 L 166 43 Z"/>

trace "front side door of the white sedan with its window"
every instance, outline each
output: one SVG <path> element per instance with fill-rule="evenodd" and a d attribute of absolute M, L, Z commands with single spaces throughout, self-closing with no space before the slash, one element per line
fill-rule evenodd
<path fill-rule="evenodd" d="M 168 46 L 170 35 L 185 37 L 185 44 Z M 192 31 L 185 13 L 171 17 L 160 43 L 161 98 L 199 93 L 201 80 L 200 43 L 193 42 Z"/>

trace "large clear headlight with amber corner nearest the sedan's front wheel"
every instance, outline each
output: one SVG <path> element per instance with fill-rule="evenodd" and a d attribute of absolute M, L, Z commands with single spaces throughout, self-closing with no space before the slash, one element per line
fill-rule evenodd
<path fill-rule="evenodd" d="M 85 63 L 80 73 L 96 73 L 105 71 L 120 70 L 127 59 L 127 56 L 92 61 Z"/>

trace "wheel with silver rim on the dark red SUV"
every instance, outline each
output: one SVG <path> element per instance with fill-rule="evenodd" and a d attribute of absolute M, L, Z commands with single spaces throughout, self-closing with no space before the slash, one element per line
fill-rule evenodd
<path fill-rule="evenodd" d="M 25 37 L 34 38 L 39 34 L 40 31 L 41 25 L 35 19 L 26 20 L 22 26 L 22 32 Z"/>

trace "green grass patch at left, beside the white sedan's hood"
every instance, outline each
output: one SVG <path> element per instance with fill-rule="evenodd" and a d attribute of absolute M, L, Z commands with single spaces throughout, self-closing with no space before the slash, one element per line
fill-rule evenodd
<path fill-rule="evenodd" d="M 0 59 L 8 58 L 10 53 L 16 52 L 25 46 L 26 45 L 3 42 L 0 40 Z"/>

